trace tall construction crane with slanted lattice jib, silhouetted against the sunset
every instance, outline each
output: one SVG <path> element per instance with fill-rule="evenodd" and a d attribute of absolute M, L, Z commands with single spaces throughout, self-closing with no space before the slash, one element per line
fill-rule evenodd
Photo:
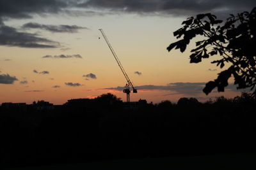
<path fill-rule="evenodd" d="M 126 99 L 127 99 L 127 103 L 130 102 L 130 93 L 131 93 L 131 90 L 130 90 L 130 87 L 132 88 L 132 92 L 133 93 L 137 93 L 138 91 L 134 88 L 134 86 L 132 85 L 132 81 L 130 80 L 129 76 L 127 75 L 127 73 L 125 72 L 124 70 L 124 67 L 122 66 L 120 60 L 118 59 L 113 47 L 110 45 L 109 41 L 108 41 L 108 38 L 106 36 L 106 34 L 104 33 L 104 31 L 102 29 L 99 29 L 99 31 L 101 32 L 102 36 L 104 37 L 106 43 L 108 44 L 108 47 L 109 49 L 111 50 L 112 54 L 114 55 L 115 57 L 115 60 L 118 64 L 118 66 L 120 67 L 122 73 L 124 74 L 125 76 L 125 79 L 127 80 L 127 83 L 125 85 L 125 89 L 123 90 L 124 93 L 126 93 Z"/>

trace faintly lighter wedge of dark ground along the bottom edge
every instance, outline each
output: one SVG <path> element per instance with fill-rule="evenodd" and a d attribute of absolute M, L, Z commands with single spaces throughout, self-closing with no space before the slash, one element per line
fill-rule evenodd
<path fill-rule="evenodd" d="M 6 168 L 4 170 L 78 170 L 78 169 L 256 169 L 256 154 L 206 155 L 109 160 L 83 164 Z"/>

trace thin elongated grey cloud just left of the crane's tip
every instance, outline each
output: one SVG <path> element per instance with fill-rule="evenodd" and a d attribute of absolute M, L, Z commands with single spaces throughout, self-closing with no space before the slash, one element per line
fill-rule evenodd
<path fill-rule="evenodd" d="M 24 29 L 44 29 L 50 32 L 68 32 L 75 33 L 79 29 L 88 29 L 87 27 L 79 27 L 77 25 L 44 25 L 38 24 L 35 22 L 28 22 L 27 24 L 22 25 Z"/>

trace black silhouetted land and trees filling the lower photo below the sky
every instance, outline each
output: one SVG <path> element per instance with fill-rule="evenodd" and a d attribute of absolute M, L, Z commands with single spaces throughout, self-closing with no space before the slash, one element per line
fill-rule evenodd
<path fill-rule="evenodd" d="M 164 101 L 130 109 L 111 95 L 53 110 L 2 106 L 0 165 L 249 169 L 256 162 L 255 110 L 256 100 L 248 94 L 207 103 L 181 98 L 177 104 Z"/>

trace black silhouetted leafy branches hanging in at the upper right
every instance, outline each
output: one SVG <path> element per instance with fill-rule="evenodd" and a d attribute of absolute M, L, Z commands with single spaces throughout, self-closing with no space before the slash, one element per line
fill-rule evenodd
<path fill-rule="evenodd" d="M 211 13 L 190 17 L 182 28 L 173 32 L 179 41 L 170 44 L 167 50 L 173 48 L 184 52 L 191 39 L 204 36 L 205 39 L 196 42 L 196 48 L 191 50 L 190 62 L 198 63 L 212 55 L 220 55 L 221 59 L 211 63 L 223 68 L 225 64 L 231 66 L 218 74 L 214 81 L 206 83 L 204 93 L 209 94 L 215 87 L 223 92 L 228 85 L 228 78 L 234 76 L 237 89 L 250 87 L 256 93 L 256 8 L 249 13 L 244 11 L 230 15 L 225 24 Z M 228 64 L 228 65 L 230 65 Z"/>

